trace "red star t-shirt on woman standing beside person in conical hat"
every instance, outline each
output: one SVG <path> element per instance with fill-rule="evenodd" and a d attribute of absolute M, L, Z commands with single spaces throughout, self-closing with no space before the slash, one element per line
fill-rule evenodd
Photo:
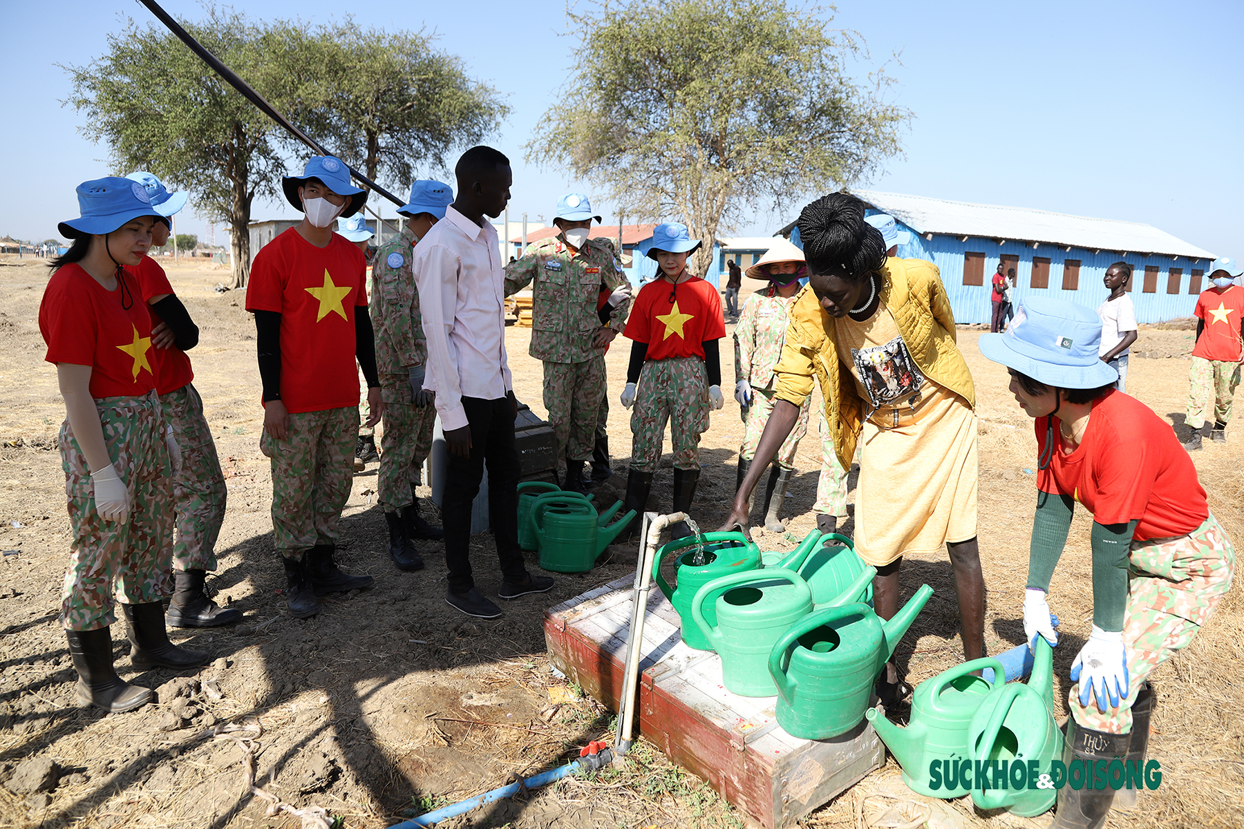
<path fill-rule="evenodd" d="M 622 333 L 648 343 L 648 359 L 704 359 L 704 341 L 725 337 L 722 296 L 698 276 L 677 288 L 658 277 L 639 288 Z"/>

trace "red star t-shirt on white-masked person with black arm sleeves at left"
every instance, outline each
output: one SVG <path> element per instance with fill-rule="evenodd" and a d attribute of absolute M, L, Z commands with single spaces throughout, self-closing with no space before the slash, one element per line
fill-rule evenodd
<path fill-rule="evenodd" d="M 290 413 L 358 405 L 355 307 L 367 306 L 363 252 L 332 234 L 316 247 L 290 227 L 250 266 L 246 311 L 281 314 L 281 401 Z"/>

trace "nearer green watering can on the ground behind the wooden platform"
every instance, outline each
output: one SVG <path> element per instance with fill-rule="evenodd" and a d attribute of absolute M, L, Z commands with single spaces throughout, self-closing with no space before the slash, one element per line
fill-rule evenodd
<path fill-rule="evenodd" d="M 612 524 L 608 520 L 621 501 L 601 515 L 585 501 L 564 498 L 565 492 L 549 492 L 531 505 L 529 522 L 536 534 L 540 567 L 554 573 L 586 573 L 596 559 L 634 517 L 631 510 Z"/>

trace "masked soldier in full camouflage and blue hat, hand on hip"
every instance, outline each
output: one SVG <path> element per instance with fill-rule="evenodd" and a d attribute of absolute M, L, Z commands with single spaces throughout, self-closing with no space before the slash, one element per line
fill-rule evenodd
<path fill-rule="evenodd" d="M 583 491 L 583 464 L 592 456 L 605 395 L 605 348 L 626 324 L 631 285 L 613 244 L 588 239 L 592 205 L 582 193 L 567 193 L 554 218 L 559 234 L 532 242 L 522 259 L 505 266 L 506 296 L 529 283 L 532 290 L 531 348 L 544 360 L 544 403 L 565 459 L 564 486 Z M 608 321 L 597 301 L 610 291 Z"/>

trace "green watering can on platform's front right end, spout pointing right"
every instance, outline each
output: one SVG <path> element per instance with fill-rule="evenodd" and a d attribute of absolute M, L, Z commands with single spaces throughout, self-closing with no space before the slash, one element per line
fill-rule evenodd
<path fill-rule="evenodd" d="M 843 590 L 857 594 L 876 570 L 866 568 Z M 786 630 L 769 651 L 778 687 L 778 725 L 792 737 L 825 740 L 855 728 L 868 710 L 873 680 L 933 595 L 922 584 L 889 621 L 862 602 L 817 610 Z"/>

